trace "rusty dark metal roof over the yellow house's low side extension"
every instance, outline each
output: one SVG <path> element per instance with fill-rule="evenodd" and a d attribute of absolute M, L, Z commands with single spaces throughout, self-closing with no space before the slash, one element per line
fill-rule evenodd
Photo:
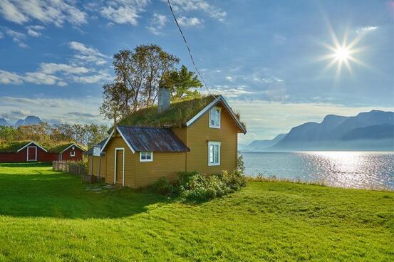
<path fill-rule="evenodd" d="M 189 152 L 172 130 L 164 127 L 117 126 L 123 139 L 136 152 Z"/>

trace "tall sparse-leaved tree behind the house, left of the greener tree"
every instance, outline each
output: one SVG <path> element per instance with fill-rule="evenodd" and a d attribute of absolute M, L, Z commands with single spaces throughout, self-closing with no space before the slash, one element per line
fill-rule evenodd
<path fill-rule="evenodd" d="M 108 119 L 123 117 L 152 106 L 165 73 L 174 70 L 180 59 L 157 45 L 137 46 L 113 56 L 114 83 L 104 85 L 100 112 Z"/>

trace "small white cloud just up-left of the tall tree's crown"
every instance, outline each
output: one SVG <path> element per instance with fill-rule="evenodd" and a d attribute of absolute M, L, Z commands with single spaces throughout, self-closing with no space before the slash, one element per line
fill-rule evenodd
<path fill-rule="evenodd" d="M 85 46 L 83 43 L 71 41 L 68 43 L 68 46 L 78 52 L 74 55 L 74 58 L 81 63 L 95 63 L 96 65 L 103 65 L 108 62 L 108 56 L 100 53 L 100 51 L 95 48 Z"/>

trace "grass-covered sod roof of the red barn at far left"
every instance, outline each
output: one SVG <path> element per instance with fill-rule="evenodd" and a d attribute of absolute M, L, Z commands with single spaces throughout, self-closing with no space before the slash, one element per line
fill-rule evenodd
<path fill-rule="evenodd" d="M 1 141 L 0 142 L 0 152 L 9 153 L 16 152 L 21 147 L 28 145 L 31 141 Z M 86 150 L 85 147 L 79 145 L 75 142 L 34 142 L 36 145 L 45 148 L 50 153 L 60 153 L 65 150 L 67 147 L 75 144 L 78 147 L 81 147 L 83 150 Z"/>

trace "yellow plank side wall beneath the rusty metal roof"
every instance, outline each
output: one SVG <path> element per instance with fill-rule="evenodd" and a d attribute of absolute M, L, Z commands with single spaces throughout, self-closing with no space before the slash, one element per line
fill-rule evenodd
<path fill-rule="evenodd" d="M 153 152 L 152 162 L 140 162 L 140 152 L 135 152 L 136 186 L 146 187 L 160 177 L 166 177 L 171 182 L 177 179 L 177 172 L 185 171 L 185 152 Z"/>

